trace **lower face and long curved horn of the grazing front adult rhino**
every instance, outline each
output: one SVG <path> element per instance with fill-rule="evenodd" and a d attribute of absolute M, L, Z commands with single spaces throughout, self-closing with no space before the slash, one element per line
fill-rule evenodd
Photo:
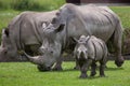
<path fill-rule="evenodd" d="M 40 47 L 40 53 L 41 55 L 34 57 L 27 55 L 26 53 L 25 55 L 30 62 L 38 66 L 39 71 L 49 71 L 60 58 L 61 44 L 57 42 L 49 43 L 47 40 L 44 40 Z"/>

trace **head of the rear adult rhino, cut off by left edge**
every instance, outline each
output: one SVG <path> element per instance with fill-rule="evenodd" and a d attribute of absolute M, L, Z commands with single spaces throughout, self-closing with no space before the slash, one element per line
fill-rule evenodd
<path fill-rule="evenodd" d="M 17 56 L 17 49 L 15 42 L 10 37 L 9 29 L 2 30 L 1 46 L 0 46 L 0 61 L 14 60 Z"/>

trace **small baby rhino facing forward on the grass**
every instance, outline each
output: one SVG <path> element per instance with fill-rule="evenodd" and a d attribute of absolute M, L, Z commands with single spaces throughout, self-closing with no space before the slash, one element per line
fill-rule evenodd
<path fill-rule="evenodd" d="M 76 40 L 76 39 L 75 39 Z M 105 76 L 104 68 L 107 61 L 107 47 L 105 43 L 95 38 L 94 35 L 81 35 L 79 40 L 76 40 L 77 44 L 74 51 L 74 57 L 76 58 L 76 62 L 80 68 L 80 77 L 88 77 L 87 71 L 91 66 L 91 75 L 94 76 L 96 74 L 95 62 L 100 62 L 100 76 Z"/>

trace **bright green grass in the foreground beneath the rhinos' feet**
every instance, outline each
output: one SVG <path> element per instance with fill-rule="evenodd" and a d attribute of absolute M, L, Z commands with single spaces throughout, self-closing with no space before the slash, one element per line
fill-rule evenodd
<path fill-rule="evenodd" d="M 107 62 L 106 77 L 78 78 L 80 72 L 73 70 L 75 62 L 64 62 L 63 71 L 39 72 L 29 62 L 1 62 L 0 86 L 130 86 L 130 61 L 116 68 L 114 61 Z M 88 74 L 90 71 L 88 72 Z"/>

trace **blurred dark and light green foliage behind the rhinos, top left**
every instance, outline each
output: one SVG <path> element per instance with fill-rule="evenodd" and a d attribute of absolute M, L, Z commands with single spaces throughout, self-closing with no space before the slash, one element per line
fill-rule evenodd
<path fill-rule="evenodd" d="M 50 11 L 57 9 L 64 3 L 65 0 L 0 0 L 0 9 Z"/>

